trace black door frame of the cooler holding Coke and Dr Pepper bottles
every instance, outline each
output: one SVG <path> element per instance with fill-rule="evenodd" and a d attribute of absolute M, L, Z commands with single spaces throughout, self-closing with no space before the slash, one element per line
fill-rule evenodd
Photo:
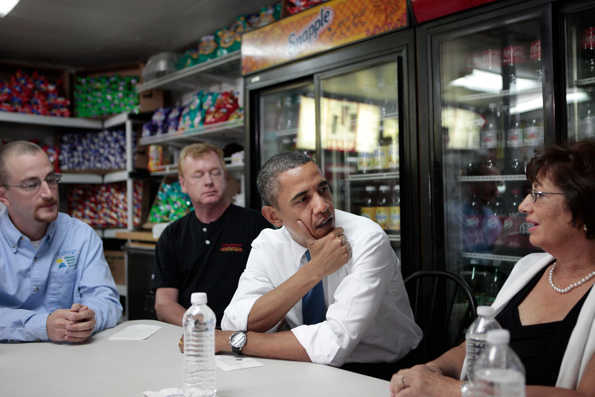
<path fill-rule="evenodd" d="M 544 139 L 558 141 L 562 137 L 561 122 L 556 121 L 560 95 L 555 92 L 553 76 L 559 63 L 553 61 L 553 48 L 558 46 L 554 35 L 552 4 L 546 1 L 497 2 L 417 28 L 419 131 L 427 131 L 427 142 L 420 139 L 419 164 L 422 213 L 422 257 L 424 270 L 447 270 L 447 248 L 444 243 L 444 170 L 441 134 L 440 42 L 470 33 L 499 27 L 532 18 L 541 23 L 543 70 Z M 556 32 L 557 33 L 557 32 Z M 425 76 L 425 79 L 422 77 Z M 559 117 L 558 117 L 559 118 Z M 427 160 L 425 160 L 427 159 Z M 431 249 L 430 249 L 431 247 Z"/>

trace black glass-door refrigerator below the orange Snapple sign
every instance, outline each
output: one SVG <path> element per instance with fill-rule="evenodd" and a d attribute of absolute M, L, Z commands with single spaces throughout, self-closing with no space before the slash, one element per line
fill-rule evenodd
<path fill-rule="evenodd" d="M 336 209 L 383 227 L 404 277 L 420 268 L 414 248 L 419 240 L 401 241 L 402 234 L 419 235 L 417 182 L 403 175 L 417 162 L 411 155 L 417 153 L 415 102 L 409 101 L 415 98 L 408 75 L 411 33 L 392 33 L 245 80 L 250 207 L 261 206 L 253 183 L 261 165 L 279 152 L 304 152 L 320 165 Z"/>

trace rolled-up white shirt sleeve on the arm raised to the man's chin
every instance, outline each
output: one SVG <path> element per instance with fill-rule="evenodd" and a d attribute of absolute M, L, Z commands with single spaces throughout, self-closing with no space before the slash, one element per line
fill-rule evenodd
<path fill-rule="evenodd" d="M 394 274 L 392 249 L 384 233 L 372 232 L 360 242 L 350 243 L 367 249 L 339 270 L 346 271 L 347 276 L 329 298 L 333 302 L 326 321 L 292 329 L 312 362 L 335 367 L 345 363 L 374 321 Z M 333 278 L 329 276 L 328 283 Z"/>

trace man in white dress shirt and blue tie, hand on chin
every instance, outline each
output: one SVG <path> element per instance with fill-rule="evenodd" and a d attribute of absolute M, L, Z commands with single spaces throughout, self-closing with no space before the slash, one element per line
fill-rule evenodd
<path fill-rule="evenodd" d="M 262 214 L 282 227 L 253 241 L 221 321 L 223 330 L 240 332 L 218 331 L 217 351 L 347 364 L 361 372 L 349 363 L 386 365 L 418 345 L 421 329 L 386 234 L 367 218 L 334 210 L 328 182 L 311 158 L 275 155 L 259 172 L 258 189 Z M 302 298 L 317 285 L 324 289 L 322 318 L 308 323 Z M 281 326 L 290 330 L 275 332 Z M 379 377 L 390 379 L 393 369 Z"/>

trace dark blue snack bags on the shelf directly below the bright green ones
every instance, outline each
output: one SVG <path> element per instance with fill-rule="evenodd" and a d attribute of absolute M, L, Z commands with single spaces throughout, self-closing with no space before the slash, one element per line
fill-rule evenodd
<path fill-rule="evenodd" d="M 136 150 L 136 133 L 132 136 Z M 68 170 L 124 170 L 126 133 L 123 130 L 65 133 L 60 142 L 60 168 Z"/>

